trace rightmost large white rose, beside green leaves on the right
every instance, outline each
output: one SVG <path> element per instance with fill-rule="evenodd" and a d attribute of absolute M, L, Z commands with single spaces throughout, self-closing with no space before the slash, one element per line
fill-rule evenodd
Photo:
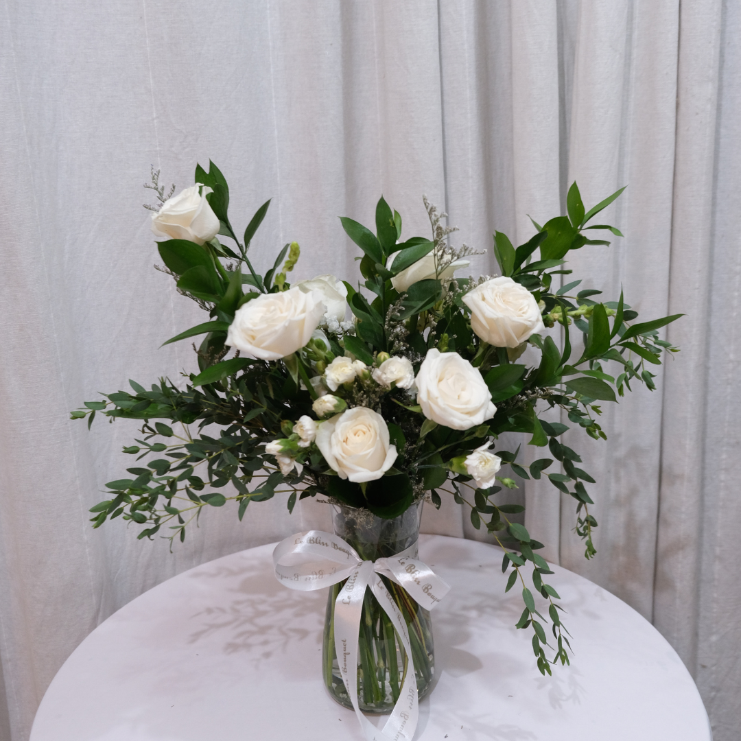
<path fill-rule="evenodd" d="M 511 278 L 492 278 L 463 296 L 471 329 L 495 348 L 516 348 L 545 329 L 533 294 Z"/>

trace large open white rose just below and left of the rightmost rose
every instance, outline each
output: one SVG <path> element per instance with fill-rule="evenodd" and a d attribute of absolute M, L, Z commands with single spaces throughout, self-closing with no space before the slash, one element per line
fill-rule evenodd
<path fill-rule="evenodd" d="M 481 373 L 458 353 L 428 350 L 416 376 L 417 403 L 433 422 L 468 430 L 491 419 L 496 407 Z"/>

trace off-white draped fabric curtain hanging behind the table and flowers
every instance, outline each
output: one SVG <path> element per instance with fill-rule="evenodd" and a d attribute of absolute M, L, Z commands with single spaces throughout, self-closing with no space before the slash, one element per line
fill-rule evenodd
<path fill-rule="evenodd" d="M 585 247 L 585 285 L 668 328 L 682 352 L 653 393 L 576 431 L 598 484 L 597 557 L 574 500 L 522 483 L 548 557 L 652 620 L 697 680 L 716 741 L 741 725 L 741 4 L 734 0 L 4 0 L 0 5 L 0 739 L 24 741 L 50 680 L 108 615 L 163 579 L 310 527 L 326 505 L 214 510 L 170 554 L 88 508 L 136 425 L 69 411 L 98 391 L 176 379 L 202 321 L 158 256 L 149 166 L 179 189 L 213 159 L 256 267 L 296 239 L 296 277 L 356 275 L 338 216 L 405 234 L 422 193 L 489 247 L 562 212 L 576 179 L 625 239 Z M 600 219 L 602 220 L 602 219 Z M 496 272 L 493 256 L 474 273 Z M 607 405 L 605 405 L 606 407 Z M 482 537 L 455 505 L 428 531 Z M 567 606 L 568 607 L 568 606 Z M 579 637 L 574 637 L 578 647 Z M 616 641 L 621 637 L 616 636 Z M 576 659 L 578 662 L 578 658 Z M 535 668 L 534 668 L 534 671 Z M 556 671 L 558 671 L 556 669 Z M 111 698 L 115 702 L 115 698 Z"/>

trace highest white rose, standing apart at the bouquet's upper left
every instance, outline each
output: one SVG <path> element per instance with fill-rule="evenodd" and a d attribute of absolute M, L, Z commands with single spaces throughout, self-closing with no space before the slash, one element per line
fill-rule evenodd
<path fill-rule="evenodd" d="M 219 219 L 213 213 L 207 193 L 210 187 L 201 183 L 187 187 L 177 196 L 167 199 L 157 213 L 152 214 L 152 231 L 159 237 L 167 239 L 187 239 L 202 245 L 213 239 L 221 228 Z"/>

